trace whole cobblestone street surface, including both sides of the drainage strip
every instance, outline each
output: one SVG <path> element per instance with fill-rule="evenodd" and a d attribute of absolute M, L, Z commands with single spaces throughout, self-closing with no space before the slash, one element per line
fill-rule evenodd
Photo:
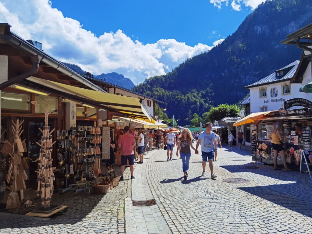
<path fill-rule="evenodd" d="M 176 150 L 176 148 L 174 149 Z M 154 150 L 137 164 L 135 180 L 107 195 L 53 194 L 68 212 L 48 220 L 0 214 L 0 233 L 312 233 L 312 182 L 307 174 L 275 171 L 251 162 L 247 150 L 219 149 L 215 180 L 201 177 L 201 156 L 192 154 L 188 180 L 176 156 Z M 129 168 L 125 178 L 129 178 Z M 242 178 L 248 183 L 226 183 Z M 133 207 L 132 200 L 157 205 Z"/>

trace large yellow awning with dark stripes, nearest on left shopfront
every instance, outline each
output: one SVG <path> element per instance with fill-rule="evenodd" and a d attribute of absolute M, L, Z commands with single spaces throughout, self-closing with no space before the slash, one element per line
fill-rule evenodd
<path fill-rule="evenodd" d="M 75 96 L 78 100 L 85 99 L 93 105 L 103 106 L 104 108 L 106 107 L 109 110 L 122 113 L 131 118 L 152 120 L 152 117 L 143 101 L 138 98 L 83 89 L 51 80 L 43 80 L 37 77 L 28 77 L 27 80 L 60 91 L 62 95 L 68 94 L 69 98 L 73 98 L 73 96 Z"/>

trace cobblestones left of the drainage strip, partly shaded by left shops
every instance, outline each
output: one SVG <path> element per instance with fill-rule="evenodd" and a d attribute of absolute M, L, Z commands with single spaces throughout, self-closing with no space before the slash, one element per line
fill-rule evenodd
<path fill-rule="evenodd" d="M 126 179 L 130 177 L 129 168 L 124 175 Z M 53 193 L 51 204 L 67 205 L 65 214 L 42 220 L 26 216 L 12 218 L 0 213 L 0 234 L 125 233 L 124 203 L 127 197 L 131 197 L 130 179 L 119 182 L 119 186 L 106 195 L 86 191 L 76 195 L 73 191 L 62 195 Z"/>

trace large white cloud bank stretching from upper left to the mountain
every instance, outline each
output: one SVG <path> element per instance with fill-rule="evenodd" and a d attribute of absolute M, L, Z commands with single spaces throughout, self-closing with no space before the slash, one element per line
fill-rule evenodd
<path fill-rule="evenodd" d="M 43 44 L 56 59 L 77 64 L 94 74 L 118 72 L 142 82 L 150 76 L 171 71 L 185 59 L 213 46 L 188 46 L 174 39 L 161 39 L 144 45 L 121 30 L 97 37 L 79 21 L 64 17 L 48 0 L 1 0 L 0 22 L 12 25 L 12 32 Z"/>

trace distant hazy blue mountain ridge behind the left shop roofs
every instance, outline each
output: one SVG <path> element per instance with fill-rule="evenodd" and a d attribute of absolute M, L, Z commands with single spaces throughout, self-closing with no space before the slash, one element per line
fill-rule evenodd
<path fill-rule="evenodd" d="M 71 70 L 86 74 L 87 72 L 82 70 L 80 66 L 77 66 L 75 64 L 65 63 L 66 66 L 68 66 Z M 102 73 L 101 75 L 94 75 L 93 76 L 96 79 L 102 79 L 107 80 L 107 82 L 111 84 L 118 84 L 121 87 L 124 87 L 126 89 L 132 89 L 134 87 L 134 83 L 127 77 L 124 77 L 124 75 L 118 74 L 117 72 L 111 72 L 111 73 Z"/>

